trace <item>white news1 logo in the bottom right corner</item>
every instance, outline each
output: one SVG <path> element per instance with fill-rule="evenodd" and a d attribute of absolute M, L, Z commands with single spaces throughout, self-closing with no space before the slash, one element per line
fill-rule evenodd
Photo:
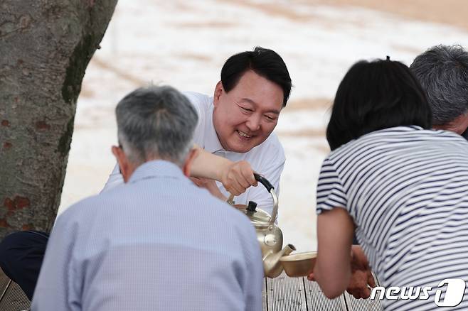
<path fill-rule="evenodd" d="M 442 298 L 442 288 L 444 288 L 445 285 L 447 285 L 447 290 L 445 290 L 445 296 Z M 446 278 L 437 285 L 437 288 L 440 288 L 435 290 L 434 303 L 437 307 L 457 307 L 463 300 L 467 284 L 461 278 Z M 430 286 L 423 288 L 419 286 L 410 286 L 408 288 L 399 288 L 397 286 L 383 288 L 377 286 L 372 288 L 371 300 L 376 299 L 378 291 L 380 291 L 378 294 L 379 300 L 383 300 L 383 298 L 387 300 L 427 300 L 430 297 L 429 292 L 431 290 L 432 287 Z"/>

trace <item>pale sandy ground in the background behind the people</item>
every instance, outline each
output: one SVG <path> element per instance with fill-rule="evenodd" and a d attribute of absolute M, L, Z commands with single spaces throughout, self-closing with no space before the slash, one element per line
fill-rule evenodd
<path fill-rule="evenodd" d="M 314 250 L 315 188 L 329 152 L 327 109 L 344 73 L 363 58 L 390 55 L 409 65 L 432 45 L 467 45 L 467 6 L 452 0 L 119 1 L 83 80 L 60 212 L 107 180 L 115 165 L 113 110 L 124 94 L 149 82 L 211 94 L 228 56 L 261 45 L 282 55 L 294 83 L 275 130 L 287 156 L 280 227 L 285 242 Z"/>

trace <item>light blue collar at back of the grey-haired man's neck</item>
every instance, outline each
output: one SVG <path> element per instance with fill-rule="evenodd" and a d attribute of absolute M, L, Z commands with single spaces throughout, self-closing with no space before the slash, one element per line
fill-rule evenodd
<path fill-rule="evenodd" d="M 151 160 L 145 162 L 133 172 L 129 183 L 137 182 L 147 178 L 186 178 L 181 168 L 174 163 L 166 160 Z"/>

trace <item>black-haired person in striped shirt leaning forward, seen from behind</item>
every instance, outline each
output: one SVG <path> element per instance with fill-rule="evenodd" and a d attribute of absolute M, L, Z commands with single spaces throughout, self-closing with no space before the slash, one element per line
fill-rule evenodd
<path fill-rule="evenodd" d="M 314 278 L 327 297 L 349 285 L 354 232 L 381 285 L 398 288 L 385 310 L 436 309 L 452 298 L 447 278 L 466 287 L 468 142 L 431 127 L 425 92 L 402 63 L 361 61 L 346 73 L 317 187 Z M 467 310 L 467 291 L 459 298 L 447 310 Z"/>

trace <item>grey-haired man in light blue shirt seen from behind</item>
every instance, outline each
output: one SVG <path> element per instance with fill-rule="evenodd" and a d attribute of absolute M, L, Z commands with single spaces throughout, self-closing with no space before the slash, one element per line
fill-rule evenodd
<path fill-rule="evenodd" d="M 261 310 L 252 225 L 187 178 L 198 118 L 188 99 L 137 89 L 116 114 L 126 184 L 58 217 L 33 310 Z"/>

